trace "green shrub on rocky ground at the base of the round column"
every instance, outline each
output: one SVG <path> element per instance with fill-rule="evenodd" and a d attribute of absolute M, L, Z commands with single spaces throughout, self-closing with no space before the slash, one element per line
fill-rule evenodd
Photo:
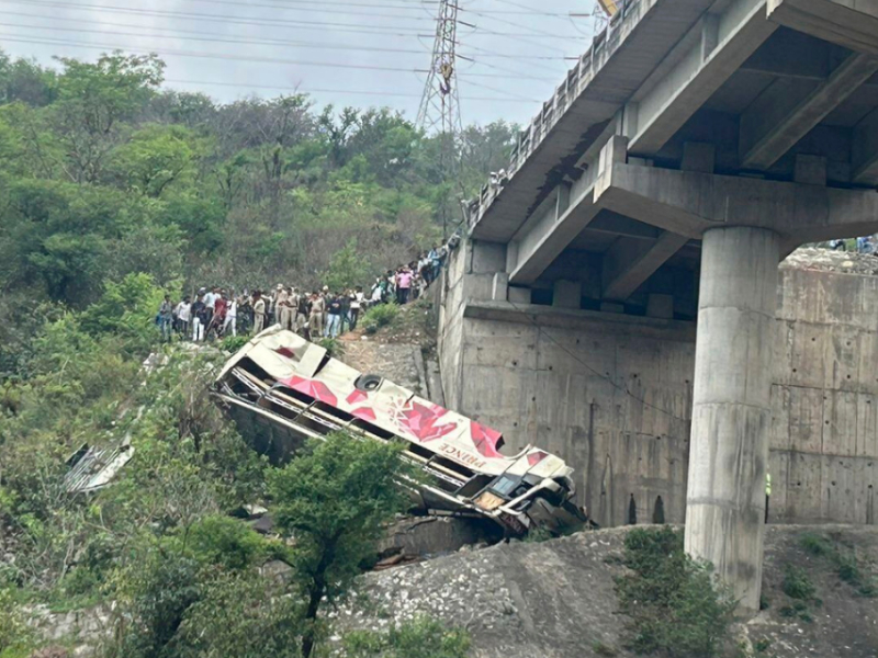
<path fill-rule="evenodd" d="M 616 579 L 616 593 L 630 617 L 630 648 L 691 658 L 718 655 L 736 602 L 716 582 L 710 565 L 686 555 L 682 533 L 671 527 L 630 532 L 623 564 L 630 572 Z"/>

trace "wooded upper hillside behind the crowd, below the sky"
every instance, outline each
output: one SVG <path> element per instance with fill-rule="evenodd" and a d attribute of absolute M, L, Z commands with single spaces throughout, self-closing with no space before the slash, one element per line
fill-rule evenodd
<path fill-rule="evenodd" d="M 368 284 L 461 219 L 515 128 L 441 138 L 384 109 L 304 94 L 219 105 L 162 91 L 155 56 L 0 53 L 0 374 L 16 372 L 44 303 L 81 310 L 130 274 L 156 286 Z"/>

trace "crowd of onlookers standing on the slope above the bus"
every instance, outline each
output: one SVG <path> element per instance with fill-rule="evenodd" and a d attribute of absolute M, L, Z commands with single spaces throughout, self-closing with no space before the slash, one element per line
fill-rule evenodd
<path fill-rule="evenodd" d="M 437 280 L 448 254 L 459 242 L 455 235 L 417 260 L 387 270 L 368 291 L 363 286 L 331 291 L 326 285 L 307 291 L 279 283 L 273 291 L 245 290 L 240 294 L 234 288 L 203 287 L 179 302 L 165 295 L 156 325 L 167 342 L 249 336 L 275 324 L 307 340 L 338 338 L 356 329 L 360 314 L 371 306 L 408 304 L 420 297 Z"/>

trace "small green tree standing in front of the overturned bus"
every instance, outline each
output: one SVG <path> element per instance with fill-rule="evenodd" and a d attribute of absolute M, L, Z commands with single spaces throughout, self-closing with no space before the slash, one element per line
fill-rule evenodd
<path fill-rule="evenodd" d="M 295 537 L 295 569 L 305 600 L 302 656 L 318 638 L 324 600 L 345 594 L 372 557 L 382 526 L 405 507 L 397 483 L 401 447 L 334 433 L 269 476 L 278 525 Z"/>

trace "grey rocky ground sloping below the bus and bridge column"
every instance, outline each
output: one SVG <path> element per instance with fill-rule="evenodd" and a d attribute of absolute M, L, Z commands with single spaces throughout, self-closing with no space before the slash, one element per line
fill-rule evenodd
<path fill-rule="evenodd" d="M 336 613 L 337 631 L 382 628 L 418 615 L 466 627 L 475 658 L 631 656 L 622 648 L 614 576 L 627 529 L 584 532 L 539 544 L 513 542 L 370 574 L 352 603 Z M 875 569 L 878 529 L 770 526 L 764 599 L 768 609 L 738 633 L 757 656 L 878 657 L 878 599 L 842 582 L 828 557 L 802 547 L 825 535 L 855 547 Z M 788 564 L 806 568 L 815 593 L 808 602 L 784 593 Z M 787 616 L 796 605 L 804 610 Z"/>

